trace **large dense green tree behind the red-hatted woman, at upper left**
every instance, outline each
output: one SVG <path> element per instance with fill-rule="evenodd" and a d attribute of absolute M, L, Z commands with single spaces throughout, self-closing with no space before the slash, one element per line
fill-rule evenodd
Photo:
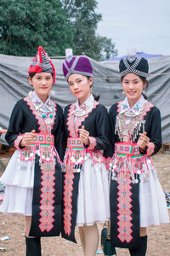
<path fill-rule="evenodd" d="M 0 53 L 35 55 L 42 45 L 48 55 L 65 55 L 73 31 L 59 0 L 0 0 Z"/>

